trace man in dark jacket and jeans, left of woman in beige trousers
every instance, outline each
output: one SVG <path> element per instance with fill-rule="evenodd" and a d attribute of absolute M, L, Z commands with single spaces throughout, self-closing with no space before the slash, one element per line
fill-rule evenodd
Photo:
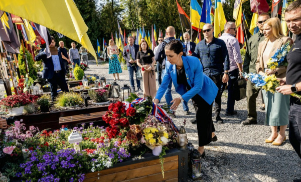
<path fill-rule="evenodd" d="M 127 41 L 129 44 L 124 46 L 122 56 L 126 60 L 126 66 L 129 75 L 130 86 L 133 91 L 135 91 L 135 83 L 134 83 L 134 71 L 137 72 L 139 70 L 139 66 L 137 65 L 136 55 L 139 51 L 139 45 L 134 44 L 133 36 L 128 36 Z M 142 91 L 140 88 L 140 80 L 136 77 L 137 90 Z"/>

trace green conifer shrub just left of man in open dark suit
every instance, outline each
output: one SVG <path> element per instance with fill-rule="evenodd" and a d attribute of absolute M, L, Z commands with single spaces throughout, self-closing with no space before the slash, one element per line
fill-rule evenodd
<path fill-rule="evenodd" d="M 25 48 L 25 55 L 27 57 L 27 63 L 28 63 L 28 71 L 29 71 L 29 76 L 33 78 L 33 80 L 37 79 L 37 69 L 34 66 L 34 59 L 32 54 Z M 20 46 L 20 54 L 18 55 L 19 59 L 19 68 L 20 68 L 20 73 L 21 75 L 26 75 L 26 57 L 23 58 L 23 47 Z"/>

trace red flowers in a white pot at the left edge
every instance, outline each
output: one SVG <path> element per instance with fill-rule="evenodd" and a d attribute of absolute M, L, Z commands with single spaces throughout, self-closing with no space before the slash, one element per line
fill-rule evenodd
<path fill-rule="evenodd" d="M 22 115 L 24 105 L 34 102 L 38 96 L 31 94 L 9 95 L 0 101 L 2 108 L 10 109 L 10 114 Z"/>

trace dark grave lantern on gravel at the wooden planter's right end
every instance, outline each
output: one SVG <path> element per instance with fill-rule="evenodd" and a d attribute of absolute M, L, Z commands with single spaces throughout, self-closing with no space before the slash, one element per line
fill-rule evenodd
<path fill-rule="evenodd" d="M 191 154 L 191 162 L 189 167 L 189 174 L 192 179 L 202 177 L 201 173 L 201 153 L 194 149 Z"/>

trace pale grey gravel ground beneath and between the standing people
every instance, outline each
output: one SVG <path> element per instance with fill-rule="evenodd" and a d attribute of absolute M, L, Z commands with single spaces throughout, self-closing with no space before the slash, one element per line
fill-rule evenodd
<path fill-rule="evenodd" d="M 113 81 L 113 75 L 108 74 L 107 63 L 96 66 L 95 61 L 90 60 L 89 67 L 85 73 L 96 73 L 106 77 L 107 82 Z M 123 84 L 129 85 L 127 70 L 120 73 L 120 79 L 121 81 L 117 81 L 120 87 Z M 1 96 L 4 92 L 2 83 L 1 81 Z M 175 90 L 172 91 L 172 94 L 174 97 L 179 96 Z M 141 93 L 139 95 L 142 96 Z M 165 101 L 164 98 L 162 101 Z M 225 91 L 222 96 L 221 111 L 224 124 L 214 123 L 218 140 L 205 146 L 206 156 L 205 159 L 202 159 L 203 177 L 199 181 L 292 181 L 301 179 L 300 158 L 289 143 L 288 128 L 284 144 L 274 146 L 264 142 L 270 134 L 270 127 L 264 125 L 265 113 L 259 111 L 261 100 L 257 99 L 258 124 L 248 126 L 240 123 L 247 116 L 246 100 L 235 103 L 235 110 L 238 114 L 234 116 L 225 115 L 226 102 L 227 92 Z M 180 126 L 187 118 L 185 127 L 189 141 L 197 147 L 196 124 L 190 122 L 195 118 L 195 110 L 191 100 L 188 103 L 192 113 L 185 115 L 183 107 L 179 106 L 174 122 Z"/>

